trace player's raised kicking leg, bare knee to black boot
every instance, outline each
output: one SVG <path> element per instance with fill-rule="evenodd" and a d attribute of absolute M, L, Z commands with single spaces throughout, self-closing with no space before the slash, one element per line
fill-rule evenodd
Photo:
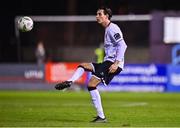
<path fill-rule="evenodd" d="M 56 84 L 55 88 L 57 90 L 63 90 L 64 88 L 68 88 L 72 85 L 74 81 L 76 81 L 83 75 L 84 71 L 92 71 L 92 70 L 93 70 L 93 66 L 91 63 L 81 63 L 69 80 Z"/>

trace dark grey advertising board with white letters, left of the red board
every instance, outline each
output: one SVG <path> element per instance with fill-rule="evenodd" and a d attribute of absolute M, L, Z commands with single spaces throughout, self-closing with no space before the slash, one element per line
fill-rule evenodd
<path fill-rule="evenodd" d="M 45 65 L 1 64 L 0 82 L 44 82 Z"/>

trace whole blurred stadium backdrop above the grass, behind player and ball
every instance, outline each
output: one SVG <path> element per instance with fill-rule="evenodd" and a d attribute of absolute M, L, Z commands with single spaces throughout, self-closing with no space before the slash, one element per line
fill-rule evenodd
<path fill-rule="evenodd" d="M 49 84 L 66 80 L 79 63 L 97 61 L 95 50 L 103 42 L 104 30 L 95 15 L 102 5 L 112 9 L 112 21 L 128 45 L 125 70 L 112 82 L 115 88 L 108 90 L 179 91 L 178 0 L 6 0 L 0 5 L 0 87 L 52 89 Z M 19 16 L 32 17 L 32 31 L 17 30 Z M 72 20 L 65 21 L 68 17 Z M 36 52 L 39 43 L 45 50 L 42 62 Z M 88 78 L 85 74 L 77 83 L 85 85 Z"/>

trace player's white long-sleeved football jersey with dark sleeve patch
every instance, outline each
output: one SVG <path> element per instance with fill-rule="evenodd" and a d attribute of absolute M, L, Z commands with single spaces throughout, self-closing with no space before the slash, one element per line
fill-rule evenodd
<path fill-rule="evenodd" d="M 119 67 L 123 69 L 126 48 L 127 45 L 123 39 L 120 28 L 116 24 L 110 23 L 109 26 L 106 27 L 104 35 L 104 61 L 114 62 L 118 60 L 120 61 Z"/>

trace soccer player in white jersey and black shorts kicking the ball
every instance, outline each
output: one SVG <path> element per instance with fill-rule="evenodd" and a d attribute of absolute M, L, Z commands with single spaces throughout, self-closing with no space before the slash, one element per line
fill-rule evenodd
<path fill-rule="evenodd" d="M 85 71 L 92 72 L 92 77 L 88 83 L 92 102 L 97 111 L 97 117 L 91 122 L 106 122 L 103 112 L 101 97 L 96 88 L 101 82 L 108 85 L 115 75 L 118 75 L 124 67 L 124 55 L 127 45 L 123 39 L 123 34 L 115 23 L 111 22 L 112 11 L 107 7 L 97 10 L 96 20 L 105 28 L 104 50 L 105 57 L 102 63 L 81 63 L 72 77 L 62 83 L 55 85 L 57 90 L 68 88 L 74 81 L 82 76 Z"/>

